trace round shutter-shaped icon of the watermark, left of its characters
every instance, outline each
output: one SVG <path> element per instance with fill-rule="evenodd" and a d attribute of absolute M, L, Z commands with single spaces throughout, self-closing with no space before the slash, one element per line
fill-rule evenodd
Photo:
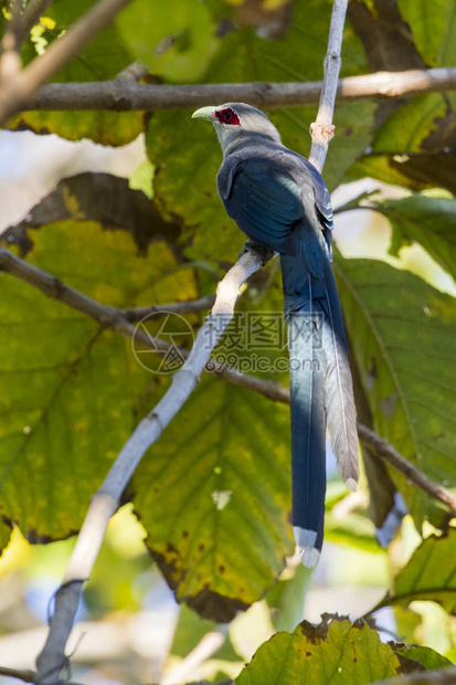
<path fill-rule="evenodd" d="M 138 363 L 148 371 L 167 376 L 176 373 L 185 361 L 183 349 L 194 342 L 193 329 L 184 316 L 160 312 L 145 316 L 135 326 L 132 352 Z M 160 346 L 163 342 L 163 347 Z M 159 354 L 157 354 L 159 352 Z"/>

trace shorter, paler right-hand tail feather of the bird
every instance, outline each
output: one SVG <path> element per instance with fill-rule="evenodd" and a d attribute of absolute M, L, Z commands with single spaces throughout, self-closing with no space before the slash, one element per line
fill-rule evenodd
<path fill-rule="evenodd" d="M 325 407 L 332 450 L 350 489 L 358 483 L 358 432 L 353 383 L 348 361 L 342 313 L 329 262 L 325 266 L 326 307 L 330 326 L 322 328 L 327 358 Z"/>

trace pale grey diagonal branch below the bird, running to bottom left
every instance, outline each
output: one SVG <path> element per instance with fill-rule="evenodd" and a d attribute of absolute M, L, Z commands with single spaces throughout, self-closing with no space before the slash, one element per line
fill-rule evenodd
<path fill-rule="evenodd" d="M 173 376 L 168 392 L 140 421 L 127 440 L 102 487 L 92 498 L 63 584 L 55 597 L 55 611 L 46 643 L 36 661 L 39 685 L 55 685 L 59 682 L 59 674 L 65 664 L 65 645 L 73 626 L 83 582 L 91 573 L 109 518 L 116 512 L 127 483 L 145 452 L 158 440 L 194 390 L 212 347 L 218 344 L 233 316 L 240 286 L 262 264 L 257 255 L 246 252 L 219 284 L 212 316 L 200 328 L 185 363 Z"/>

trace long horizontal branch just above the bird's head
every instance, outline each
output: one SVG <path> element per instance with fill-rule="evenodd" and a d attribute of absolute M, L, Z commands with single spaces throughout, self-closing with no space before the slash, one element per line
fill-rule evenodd
<path fill-rule="evenodd" d="M 117 78 L 98 83 L 50 83 L 22 104 L 22 109 L 190 109 L 208 103 L 245 102 L 256 107 L 299 107 L 319 102 L 322 81 L 307 83 L 218 83 L 148 85 Z M 401 97 L 456 88 L 456 66 L 348 76 L 337 83 L 337 98 Z"/>

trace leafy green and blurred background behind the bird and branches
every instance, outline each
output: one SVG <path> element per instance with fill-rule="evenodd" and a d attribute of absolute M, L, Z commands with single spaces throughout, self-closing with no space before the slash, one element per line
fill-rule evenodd
<path fill-rule="evenodd" d="M 23 62 L 91 4 L 54 0 Z M 134 61 L 150 83 L 316 81 L 330 12 L 329 0 L 132 0 L 55 81 L 110 80 Z M 455 17 L 454 0 L 351 0 L 342 75 L 454 65 Z M 324 171 L 360 420 L 449 488 L 455 105 L 452 92 L 338 104 Z M 18 115 L 0 137 L 3 246 L 115 307 L 213 293 L 243 236 L 215 192 L 215 137 L 190 114 Z M 268 115 L 307 155 L 316 106 Z M 32 144 L 24 128 L 41 138 Z M 106 148 L 75 143 L 83 138 L 118 149 L 108 162 Z M 170 376 L 139 365 L 129 340 L 83 314 L 0 280 L 0 666 L 25 668 L 89 497 Z M 282 312 L 275 261 L 251 280 L 238 312 Z M 204 315 L 185 315 L 182 336 Z M 147 327 L 163 333 L 159 318 Z M 266 356 L 274 362 L 280 350 Z M 277 368 L 262 377 L 287 383 Z M 335 663 L 341 684 L 362 684 L 456 661 L 450 514 L 367 451 L 360 488 L 348 494 L 329 454 L 326 542 L 310 576 L 293 559 L 288 431 L 286 407 L 202 379 L 112 521 L 68 645 L 73 679 L 171 685 L 241 673 L 241 684 L 262 684 L 267 673 L 291 683 L 311 667 L 319 685 Z M 396 493 L 409 514 L 382 550 L 374 524 Z M 336 612 L 350 620 L 320 622 Z M 287 633 L 265 642 L 277 631 Z"/>

